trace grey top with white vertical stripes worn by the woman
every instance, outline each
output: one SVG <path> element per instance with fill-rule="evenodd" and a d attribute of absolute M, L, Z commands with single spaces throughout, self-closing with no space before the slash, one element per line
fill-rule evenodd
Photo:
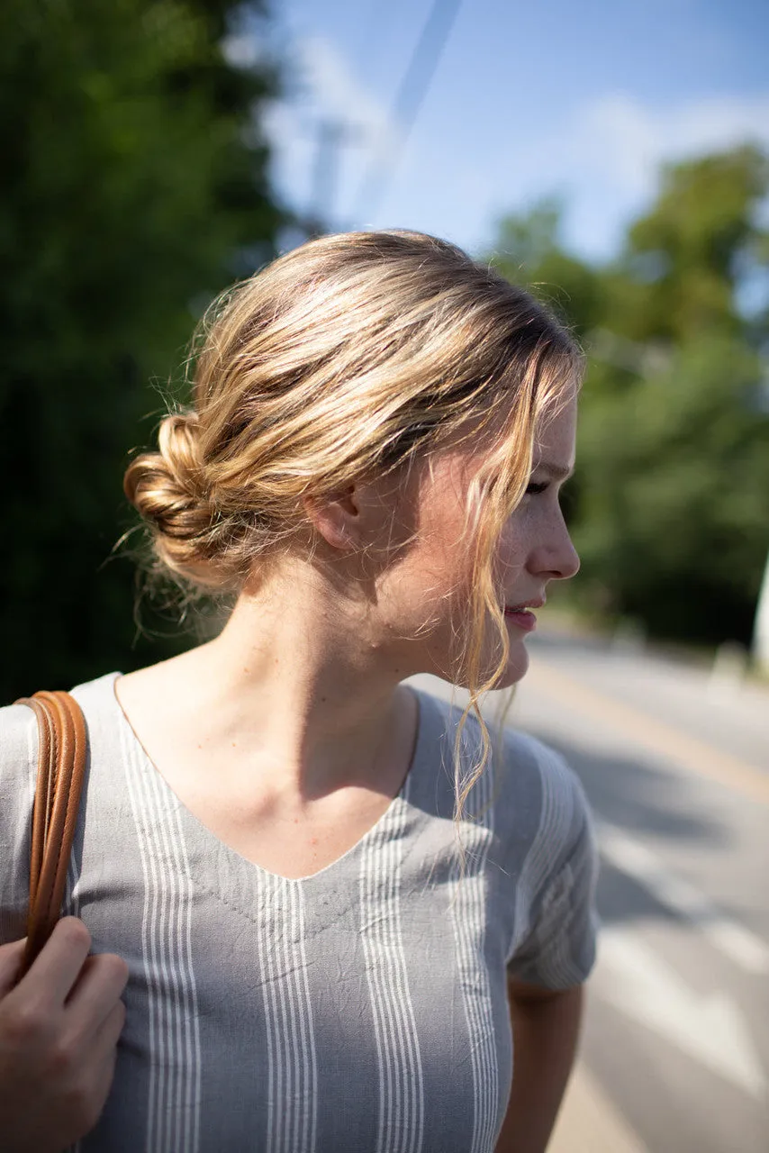
<path fill-rule="evenodd" d="M 83 1153 L 490 1153 L 513 1065 L 506 971 L 563 988 L 595 955 L 597 854 L 572 770 L 508 732 L 452 822 L 461 715 L 416 691 L 412 767 L 334 864 L 285 880 L 189 813 L 110 673 L 74 689 L 86 797 L 67 905 L 130 970 Z M 480 740 L 470 717 L 466 749 Z M 0 709 L 0 942 L 23 936 L 37 728 Z"/>

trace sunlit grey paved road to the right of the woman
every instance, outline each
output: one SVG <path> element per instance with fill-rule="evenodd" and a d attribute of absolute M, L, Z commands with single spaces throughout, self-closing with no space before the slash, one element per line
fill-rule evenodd
<path fill-rule="evenodd" d="M 576 769 L 602 851 L 552 1153 L 769 1153 L 769 692 L 605 642 L 528 643 L 511 719 Z"/>

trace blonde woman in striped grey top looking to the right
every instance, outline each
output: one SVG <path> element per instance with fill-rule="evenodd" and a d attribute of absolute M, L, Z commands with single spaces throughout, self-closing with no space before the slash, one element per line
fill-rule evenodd
<path fill-rule="evenodd" d="M 419 233 L 312 241 L 219 302 L 125 488 L 158 572 L 234 606 L 74 689 L 70 915 L 16 985 L 36 722 L 0 711 L 6 1153 L 545 1148 L 595 842 L 573 773 L 477 699 L 578 568 L 580 372 L 540 304 Z"/>

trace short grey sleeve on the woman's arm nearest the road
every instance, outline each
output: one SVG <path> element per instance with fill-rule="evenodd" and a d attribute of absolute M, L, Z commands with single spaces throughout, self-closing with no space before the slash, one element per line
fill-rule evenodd
<path fill-rule="evenodd" d="M 549 876 L 531 907 L 531 929 L 511 957 L 511 977 L 549 989 L 580 985 L 595 963 L 598 914 L 598 849 L 582 786 L 570 770 L 574 789 L 576 836 Z"/>

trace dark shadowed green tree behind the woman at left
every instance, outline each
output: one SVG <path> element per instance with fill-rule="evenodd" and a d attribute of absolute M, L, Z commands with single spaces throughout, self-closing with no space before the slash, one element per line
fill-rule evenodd
<path fill-rule="evenodd" d="M 194 312 L 274 251 L 259 112 L 272 67 L 227 0 L 8 0 L 0 14 L 6 474 L 2 699 L 138 663 L 128 451 Z M 156 651 L 156 658 L 164 655 Z"/>

